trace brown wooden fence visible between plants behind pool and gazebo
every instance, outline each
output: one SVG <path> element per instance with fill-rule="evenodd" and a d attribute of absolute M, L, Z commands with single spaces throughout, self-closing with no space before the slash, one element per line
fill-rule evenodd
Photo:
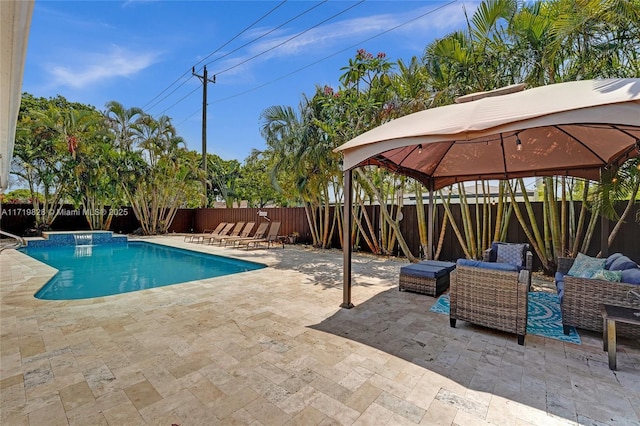
<path fill-rule="evenodd" d="M 538 223 L 542 223 L 542 203 L 535 202 L 533 204 L 534 213 L 536 215 Z M 580 203 L 577 203 L 576 211 L 579 211 Z M 2 216 L 0 219 L 0 227 L 3 230 L 17 234 L 25 235 L 25 230 L 33 227 L 34 218 L 33 214 L 29 215 L 29 210 L 33 206 L 30 204 L 3 204 Z M 524 210 L 524 206 L 521 205 Z M 621 213 L 624 208 L 623 204 L 618 206 L 618 212 Z M 78 211 L 71 206 L 65 207 L 66 212 L 63 215 L 58 216 L 53 222 L 52 229 L 56 231 L 70 231 L 70 230 L 87 230 L 89 225 L 87 224 L 84 216 L 79 213 L 73 213 Z M 380 215 L 379 206 L 367 206 L 370 218 L 374 224 L 375 229 L 379 229 Z M 64 210 L 63 210 L 64 211 Z M 126 213 L 125 213 L 126 212 Z M 420 255 L 420 236 L 418 234 L 418 221 L 416 216 L 416 206 L 407 205 L 402 208 L 403 219 L 400 222 L 400 230 L 407 241 L 411 252 L 418 256 Z M 133 211 L 129 208 L 119 210 L 119 214 L 113 218 L 111 224 L 111 230 L 119 233 L 131 233 L 137 229 L 140 225 Z M 332 212 L 333 213 L 333 212 Z M 461 210 L 460 205 L 452 205 L 452 214 L 455 217 L 456 223 L 461 223 Z M 472 209 L 472 220 L 475 217 L 475 212 Z M 440 224 L 444 219 L 444 207 L 442 205 L 436 205 L 436 229 L 435 238 L 438 239 L 438 233 L 440 232 Z M 495 217 L 495 212 L 493 217 Z M 283 207 L 283 208 L 237 208 L 237 209 L 180 209 L 178 210 L 176 217 L 169 228 L 169 232 L 175 233 L 191 233 L 202 232 L 205 229 L 213 229 L 220 222 L 256 222 L 259 224 L 264 221 L 279 221 L 281 222 L 280 235 L 290 235 L 297 233 L 298 242 L 309 244 L 311 243 L 311 231 L 307 222 L 307 217 L 302 207 Z M 475 222 L 474 222 L 475 223 Z M 613 228 L 613 223 L 610 224 L 610 229 Z M 334 233 L 332 245 L 333 247 L 340 247 L 340 241 L 338 232 Z M 600 250 L 600 222 L 596 226 L 588 255 L 595 256 Z M 515 216 L 512 217 L 507 230 L 507 241 L 511 242 L 526 242 L 527 238 L 524 231 L 520 227 L 520 224 L 516 220 Z M 368 250 L 364 242 L 361 242 L 360 250 Z M 609 248 L 610 253 L 622 252 L 636 261 L 640 261 L 640 224 L 634 222 L 632 219 L 623 224 L 622 229 L 618 232 L 616 239 L 612 246 Z M 394 255 L 402 255 L 396 250 Z M 445 233 L 444 243 L 442 251 L 440 253 L 440 259 L 442 260 L 455 260 L 457 258 L 464 257 L 464 251 L 451 229 L 451 226 L 447 226 Z M 534 265 L 536 269 L 539 268 L 540 263 L 536 256 L 534 256 Z"/>

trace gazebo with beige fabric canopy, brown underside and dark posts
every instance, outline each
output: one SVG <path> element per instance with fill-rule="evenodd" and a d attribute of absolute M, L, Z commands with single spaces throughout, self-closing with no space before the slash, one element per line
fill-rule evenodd
<path fill-rule="evenodd" d="M 344 292 L 351 303 L 352 170 L 377 165 L 430 191 L 427 259 L 433 256 L 433 191 L 456 182 L 536 176 L 599 180 L 640 156 L 640 79 L 523 85 L 390 121 L 336 148 L 344 156 Z"/>

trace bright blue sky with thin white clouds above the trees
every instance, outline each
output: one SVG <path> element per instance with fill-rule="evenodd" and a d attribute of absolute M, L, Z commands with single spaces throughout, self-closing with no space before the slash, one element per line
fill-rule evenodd
<path fill-rule="evenodd" d="M 476 3 L 36 0 L 23 91 L 168 115 L 201 151 L 202 83 L 191 68 L 202 75 L 207 64 L 216 76 L 207 152 L 242 162 L 265 148 L 265 108 L 297 106 L 316 85 L 337 87 L 340 68 L 361 48 L 392 61 L 421 56 L 435 38 L 464 28 L 465 7 L 471 16 Z"/>

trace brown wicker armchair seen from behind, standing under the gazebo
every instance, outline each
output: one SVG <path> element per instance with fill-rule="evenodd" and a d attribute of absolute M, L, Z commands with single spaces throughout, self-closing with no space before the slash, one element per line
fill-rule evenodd
<path fill-rule="evenodd" d="M 530 272 L 500 271 L 458 265 L 451 273 L 451 327 L 460 319 L 518 335 L 527 333 L 527 300 Z"/>

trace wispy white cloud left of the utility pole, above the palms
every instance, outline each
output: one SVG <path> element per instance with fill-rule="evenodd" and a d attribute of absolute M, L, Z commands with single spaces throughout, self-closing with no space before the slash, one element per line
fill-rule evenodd
<path fill-rule="evenodd" d="M 157 52 L 135 52 L 113 46 L 105 53 L 75 53 L 73 65 L 50 64 L 52 83 L 56 86 L 82 89 L 106 80 L 132 77 L 156 62 Z"/>

